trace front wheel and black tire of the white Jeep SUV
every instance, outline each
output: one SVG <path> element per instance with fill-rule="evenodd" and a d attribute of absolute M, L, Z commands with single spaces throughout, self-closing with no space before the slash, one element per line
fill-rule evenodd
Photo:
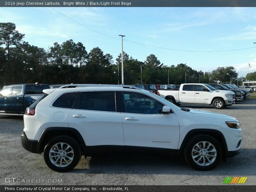
<path fill-rule="evenodd" d="M 205 142 L 205 148 L 202 148 L 203 142 Z M 210 145 L 209 143 L 212 145 Z M 198 144 L 198 146 L 203 149 L 202 152 L 201 150 L 198 150 L 199 153 L 197 153 L 193 150 L 195 148 L 199 149 L 196 147 L 196 144 Z M 207 149 L 208 146 L 209 148 Z M 204 149 L 206 149 L 206 152 L 204 151 Z M 216 151 L 216 153 L 211 152 L 214 150 Z M 197 156 L 196 158 L 194 158 L 195 160 L 193 159 L 192 155 L 194 157 Z M 184 150 L 184 156 L 188 164 L 193 168 L 200 171 L 207 171 L 213 169 L 220 163 L 220 160 L 222 158 L 222 148 L 220 146 L 220 143 L 215 138 L 209 135 L 198 135 L 188 141 Z M 208 161 L 207 158 L 210 161 Z M 198 161 L 198 163 L 196 163 L 195 161 Z"/>

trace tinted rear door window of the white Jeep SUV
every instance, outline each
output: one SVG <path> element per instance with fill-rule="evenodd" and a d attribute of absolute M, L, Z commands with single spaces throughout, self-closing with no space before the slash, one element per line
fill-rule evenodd
<path fill-rule="evenodd" d="M 80 109 L 116 112 L 115 92 L 82 92 Z"/>

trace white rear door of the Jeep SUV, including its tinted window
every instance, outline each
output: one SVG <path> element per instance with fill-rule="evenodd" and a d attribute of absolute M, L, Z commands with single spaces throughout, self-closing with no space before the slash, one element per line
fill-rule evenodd
<path fill-rule="evenodd" d="M 68 126 L 77 129 L 89 153 L 123 153 L 122 116 L 116 92 L 81 92 L 69 115 Z"/>

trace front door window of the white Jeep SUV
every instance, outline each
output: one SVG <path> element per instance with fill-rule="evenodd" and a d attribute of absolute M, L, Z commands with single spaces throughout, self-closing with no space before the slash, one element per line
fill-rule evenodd
<path fill-rule="evenodd" d="M 159 114 L 164 107 L 159 101 L 136 92 L 121 92 L 121 100 L 125 113 Z"/>

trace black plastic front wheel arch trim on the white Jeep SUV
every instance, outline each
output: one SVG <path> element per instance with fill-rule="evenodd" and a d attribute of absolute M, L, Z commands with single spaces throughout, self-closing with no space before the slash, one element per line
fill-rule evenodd
<path fill-rule="evenodd" d="M 184 137 L 181 145 L 180 145 L 180 149 L 177 152 L 177 155 L 181 155 L 185 149 L 186 144 L 188 143 L 188 141 L 195 137 L 196 135 L 209 135 L 211 137 L 213 137 L 214 139 L 218 140 L 220 142 L 221 148 L 222 148 L 222 160 L 225 161 L 226 160 L 226 154 L 228 151 L 228 147 L 227 147 L 227 142 L 226 139 L 224 137 L 224 135 L 218 131 L 218 130 L 214 130 L 214 129 L 193 129 L 191 131 L 189 131 L 186 136 Z"/>

